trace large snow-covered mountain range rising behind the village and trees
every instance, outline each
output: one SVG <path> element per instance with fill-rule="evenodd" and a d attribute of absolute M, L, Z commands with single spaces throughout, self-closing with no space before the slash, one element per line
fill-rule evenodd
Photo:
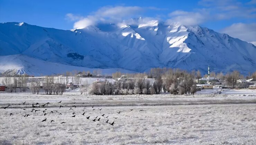
<path fill-rule="evenodd" d="M 29 66 L 31 61 L 40 65 Z M 30 74 L 38 72 L 35 69 L 44 70 L 42 73 L 51 70 L 48 63 L 139 72 L 153 67 L 206 72 L 209 65 L 216 72 L 247 74 L 256 70 L 256 47 L 208 28 L 165 25 L 157 20 L 74 30 L 7 22 L 0 23 L 0 71 L 8 69 L 10 63 L 6 62 L 23 65 L 20 72 Z"/>

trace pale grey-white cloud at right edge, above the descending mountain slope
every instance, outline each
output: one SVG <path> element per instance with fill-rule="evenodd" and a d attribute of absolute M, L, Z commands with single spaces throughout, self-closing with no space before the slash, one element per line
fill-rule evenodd
<path fill-rule="evenodd" d="M 253 43 L 256 46 L 256 23 L 234 23 L 222 29 L 221 32 L 231 37 Z"/>

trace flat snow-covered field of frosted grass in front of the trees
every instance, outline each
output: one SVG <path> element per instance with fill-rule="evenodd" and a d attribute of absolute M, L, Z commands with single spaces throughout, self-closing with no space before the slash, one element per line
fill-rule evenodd
<path fill-rule="evenodd" d="M 256 91 L 203 91 L 194 96 L 0 93 L 0 144 L 256 144 Z M 32 104 L 48 102 L 30 112 Z"/>

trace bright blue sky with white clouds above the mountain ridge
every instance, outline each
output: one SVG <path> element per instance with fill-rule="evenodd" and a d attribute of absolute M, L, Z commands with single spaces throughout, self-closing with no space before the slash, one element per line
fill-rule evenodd
<path fill-rule="evenodd" d="M 73 29 L 137 17 L 200 25 L 256 44 L 256 0 L 0 0 L 0 22 Z"/>

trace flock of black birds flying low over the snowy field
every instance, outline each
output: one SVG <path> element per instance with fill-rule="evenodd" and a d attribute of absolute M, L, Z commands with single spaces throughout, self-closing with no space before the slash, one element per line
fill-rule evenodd
<path fill-rule="evenodd" d="M 26 103 L 26 101 L 25 102 L 22 102 L 22 104 L 23 105 L 25 105 L 25 103 Z M 60 104 L 60 107 L 59 107 L 59 109 L 61 108 L 61 107 L 63 107 L 63 106 L 67 106 L 67 105 L 61 105 L 61 103 L 62 103 L 62 101 L 59 101 L 58 102 L 58 104 Z M 30 112 L 31 113 L 36 113 L 36 112 L 42 112 L 43 114 L 44 114 L 44 116 L 46 116 L 48 113 L 48 110 L 47 109 L 42 109 L 43 107 L 45 107 L 45 105 L 49 105 L 49 104 L 51 104 L 51 103 L 46 103 L 46 104 L 43 104 L 43 105 L 39 105 L 39 103 L 36 103 L 36 105 L 34 105 L 34 104 L 32 104 L 32 109 L 30 110 Z M 75 103 L 73 103 L 73 104 L 75 104 Z M 84 103 L 83 103 L 84 104 Z M 7 109 L 9 106 L 11 106 L 11 105 L 8 105 L 7 107 L 4 107 L 3 109 Z M 39 109 L 40 108 L 40 109 Z M 27 108 L 21 108 L 22 110 L 26 110 Z M 76 106 L 75 105 L 73 105 L 72 107 L 70 107 L 70 109 L 68 109 L 68 111 L 69 110 L 74 110 L 74 109 L 76 109 Z M 85 112 L 84 112 L 84 110 L 85 110 L 86 108 L 83 108 L 82 109 L 82 114 L 81 115 L 83 115 L 83 116 L 85 116 Z M 100 109 L 100 108 L 98 108 L 100 111 L 102 110 L 102 108 Z M 95 110 L 95 108 L 94 108 L 94 106 L 92 106 L 92 110 Z M 130 111 L 132 111 L 133 109 L 130 109 Z M 139 112 L 140 111 L 144 111 L 144 110 L 139 110 Z M 51 114 L 54 114 L 54 113 L 59 113 L 59 115 L 62 115 L 62 113 L 60 113 L 60 110 L 53 110 L 53 111 L 51 111 L 50 113 Z M 31 114 L 30 113 L 30 114 Z M 116 112 L 117 114 L 120 114 L 121 113 L 121 111 L 119 111 L 119 112 Z M 12 113 L 10 113 L 10 116 L 12 116 L 13 114 Z M 71 115 L 71 117 L 76 117 L 78 114 L 76 114 L 75 112 L 73 112 L 72 113 L 72 115 Z M 25 115 L 22 115 L 22 116 L 24 116 L 24 117 L 28 117 L 28 116 L 30 116 L 29 114 L 25 114 Z M 104 123 L 108 123 L 108 124 L 110 124 L 110 125 L 114 125 L 114 121 L 111 123 L 111 122 L 109 122 L 109 116 L 106 116 L 106 114 L 100 114 L 100 116 L 96 116 L 96 117 L 94 117 L 94 118 L 90 118 L 91 116 L 87 116 L 86 117 L 86 119 L 91 119 L 93 122 L 97 122 L 97 121 L 103 121 Z M 105 119 L 105 121 L 103 120 L 103 119 L 101 119 L 101 118 L 106 118 Z M 117 119 L 118 117 L 113 117 L 114 119 Z M 47 121 L 47 118 L 45 118 L 45 119 L 43 119 L 41 122 L 46 122 Z M 51 123 L 53 123 L 53 122 L 55 122 L 54 120 L 51 120 L 50 121 Z M 63 124 L 63 123 L 66 123 L 66 122 L 61 122 L 60 124 Z M 97 125 L 100 125 L 99 123 L 97 123 Z"/>

